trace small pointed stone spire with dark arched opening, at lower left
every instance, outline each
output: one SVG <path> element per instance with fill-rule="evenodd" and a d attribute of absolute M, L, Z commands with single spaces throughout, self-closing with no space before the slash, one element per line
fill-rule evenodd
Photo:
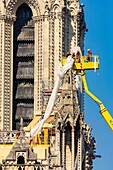
<path fill-rule="evenodd" d="M 36 163 L 37 155 L 34 153 L 33 149 L 28 144 L 28 141 L 25 137 L 23 130 L 23 118 L 20 119 L 20 132 L 18 133 L 18 139 L 12 147 L 10 153 L 3 160 L 3 164 L 10 164 L 13 161 L 13 164 L 17 164 L 18 157 L 23 156 L 25 164 L 29 164 L 29 161 Z"/>

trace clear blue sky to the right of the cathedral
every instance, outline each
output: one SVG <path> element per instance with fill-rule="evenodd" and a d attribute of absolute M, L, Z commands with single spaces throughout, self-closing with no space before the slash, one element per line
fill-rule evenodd
<path fill-rule="evenodd" d="M 88 71 L 89 90 L 106 106 L 113 117 L 113 0 L 81 0 L 85 7 L 88 32 L 85 35 L 85 53 L 88 48 L 100 57 L 100 70 Z M 98 105 L 85 94 L 85 120 L 91 124 L 97 142 L 94 170 L 113 170 L 113 132 L 99 114 Z"/>

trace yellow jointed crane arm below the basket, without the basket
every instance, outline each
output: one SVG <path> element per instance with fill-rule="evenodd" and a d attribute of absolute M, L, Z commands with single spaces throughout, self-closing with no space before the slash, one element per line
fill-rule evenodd
<path fill-rule="evenodd" d="M 86 78 L 85 78 L 85 73 L 79 73 L 82 76 L 82 81 L 84 84 L 84 89 L 85 92 L 95 101 L 100 105 L 100 114 L 103 116 L 103 118 L 105 119 L 106 123 L 108 124 L 108 126 L 111 128 L 111 130 L 113 131 L 113 118 L 111 117 L 110 113 L 108 112 L 108 110 L 105 108 L 104 104 L 95 96 L 93 95 L 89 90 L 88 90 L 88 86 L 87 86 L 87 82 L 86 82 Z"/>

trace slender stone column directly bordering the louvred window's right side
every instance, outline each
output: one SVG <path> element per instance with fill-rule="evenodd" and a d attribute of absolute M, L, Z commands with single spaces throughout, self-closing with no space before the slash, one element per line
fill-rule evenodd
<path fill-rule="evenodd" d="M 34 115 L 42 109 L 42 19 L 33 18 L 35 22 L 34 51 Z"/>

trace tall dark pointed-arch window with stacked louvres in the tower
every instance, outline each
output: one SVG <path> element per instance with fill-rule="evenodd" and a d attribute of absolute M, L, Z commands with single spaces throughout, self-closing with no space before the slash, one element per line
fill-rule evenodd
<path fill-rule="evenodd" d="M 23 3 L 17 9 L 14 23 L 13 55 L 13 129 L 20 117 L 24 125 L 34 113 L 34 23 L 30 7 Z"/>

